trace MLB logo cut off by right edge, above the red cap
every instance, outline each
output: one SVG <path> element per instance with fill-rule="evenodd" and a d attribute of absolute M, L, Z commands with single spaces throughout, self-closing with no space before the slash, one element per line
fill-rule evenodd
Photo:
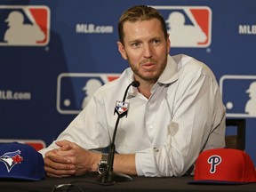
<path fill-rule="evenodd" d="M 256 76 L 221 76 L 227 117 L 256 117 Z"/>

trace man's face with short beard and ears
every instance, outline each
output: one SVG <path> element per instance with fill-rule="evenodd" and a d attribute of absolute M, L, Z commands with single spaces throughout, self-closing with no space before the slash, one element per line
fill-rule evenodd
<path fill-rule="evenodd" d="M 164 38 L 159 20 L 124 23 L 124 44 L 118 44 L 124 60 L 128 60 L 135 79 L 156 83 L 164 71 L 170 40 Z"/>

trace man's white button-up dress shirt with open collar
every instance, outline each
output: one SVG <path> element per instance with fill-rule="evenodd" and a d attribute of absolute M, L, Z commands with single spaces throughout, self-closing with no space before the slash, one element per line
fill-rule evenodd
<path fill-rule="evenodd" d="M 60 133 L 86 149 L 105 148 L 114 132 L 116 100 L 133 81 L 131 68 L 95 92 L 89 104 Z M 132 87 L 127 117 L 120 119 L 116 152 L 135 153 L 139 176 L 181 176 L 202 150 L 225 146 L 225 107 L 212 71 L 187 55 L 168 56 L 149 99 Z M 57 148 L 54 142 L 43 154 Z"/>

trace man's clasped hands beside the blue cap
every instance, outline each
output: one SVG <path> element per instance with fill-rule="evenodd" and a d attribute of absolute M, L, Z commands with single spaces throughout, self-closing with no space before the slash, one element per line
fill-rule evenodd
<path fill-rule="evenodd" d="M 85 150 L 68 140 L 56 142 L 60 148 L 48 151 L 44 156 L 44 169 L 48 176 L 67 177 L 96 172 L 100 154 Z"/>

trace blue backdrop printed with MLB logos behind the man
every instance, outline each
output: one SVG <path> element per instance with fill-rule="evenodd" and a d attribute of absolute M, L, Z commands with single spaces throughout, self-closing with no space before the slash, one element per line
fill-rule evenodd
<path fill-rule="evenodd" d="M 135 4 L 163 14 L 172 55 L 185 53 L 212 68 L 227 116 L 246 118 L 246 151 L 256 164 L 254 0 L 2 0 L 0 139 L 50 144 L 100 85 L 127 68 L 116 24 Z M 174 30 L 179 14 L 184 33 Z"/>

